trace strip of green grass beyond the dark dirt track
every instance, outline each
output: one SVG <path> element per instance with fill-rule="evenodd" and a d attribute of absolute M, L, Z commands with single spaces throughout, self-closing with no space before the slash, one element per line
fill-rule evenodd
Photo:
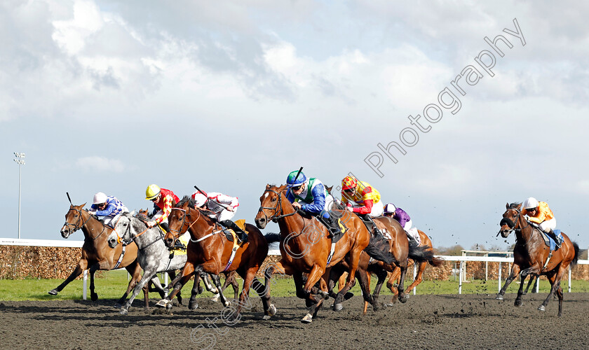
<path fill-rule="evenodd" d="M 163 283 L 163 279 L 160 276 Z M 295 295 L 295 283 L 290 278 L 273 279 L 276 283 L 271 286 L 271 295 L 276 297 L 286 297 Z M 405 288 L 409 286 L 412 279 L 406 281 Z M 241 284 L 243 280 L 238 279 Z M 502 284 L 504 280 L 501 281 Z M 69 283 L 58 295 L 48 295 L 48 291 L 59 286 L 62 280 L 58 279 L 0 279 L 0 300 L 80 300 L 82 299 L 82 280 L 76 279 Z M 189 287 L 192 282 L 189 282 Z M 527 282 L 526 282 L 527 283 Z M 88 281 L 88 285 L 90 281 Z M 126 271 L 111 271 L 104 272 L 100 278 L 95 279 L 95 290 L 100 299 L 119 299 L 127 288 L 128 275 Z M 376 278 L 372 278 L 371 290 L 376 285 Z M 417 294 L 457 294 L 458 281 L 424 281 L 417 287 Z M 507 293 L 517 293 L 519 283 L 514 281 L 508 288 Z M 562 281 L 561 286 L 566 292 L 568 288 L 568 280 Z M 548 293 L 550 283 L 546 280 L 540 281 L 540 293 Z M 360 286 L 356 283 L 351 290 L 355 295 L 360 295 Z M 589 291 L 589 281 L 572 281 L 572 292 L 587 293 Z M 498 292 L 498 284 L 496 280 L 481 281 L 473 280 L 471 282 L 462 283 L 462 293 L 464 294 L 495 294 Z M 233 289 L 231 287 L 225 291 L 225 295 L 232 297 Z M 391 295 L 391 291 L 383 286 L 381 295 Z M 211 297 L 212 293 L 205 292 L 201 297 Z M 142 297 L 142 293 L 140 296 Z M 152 293 L 152 297 L 158 297 L 156 293 Z M 90 291 L 88 290 L 88 299 L 90 298 Z"/>

